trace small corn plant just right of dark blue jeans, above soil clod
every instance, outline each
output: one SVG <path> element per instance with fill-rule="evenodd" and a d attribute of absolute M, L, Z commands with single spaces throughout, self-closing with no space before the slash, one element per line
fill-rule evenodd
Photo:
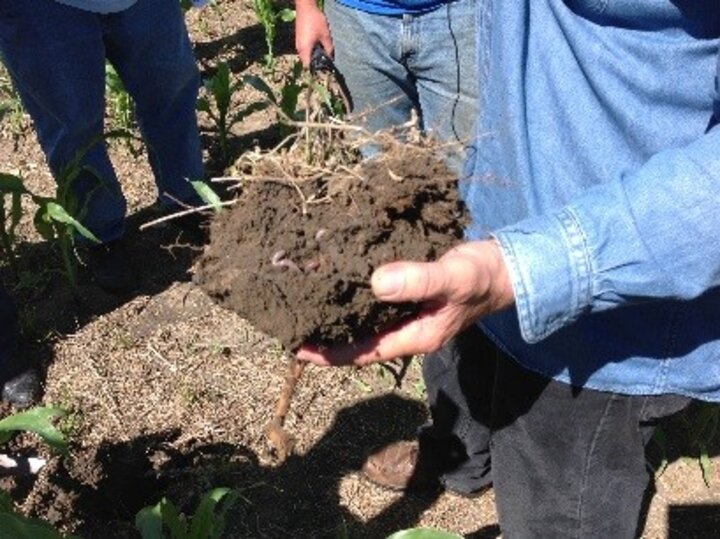
<path fill-rule="evenodd" d="M 257 101 L 238 111 L 231 112 L 233 95 L 244 85 L 243 79 L 233 82 L 230 68 L 225 62 L 221 62 L 218 64 L 215 74 L 205 82 L 207 97 L 200 97 L 197 102 L 197 109 L 207 113 L 215 123 L 223 163 L 227 163 L 229 157 L 228 140 L 233 126 L 252 113 L 267 107 L 267 103 Z"/>

